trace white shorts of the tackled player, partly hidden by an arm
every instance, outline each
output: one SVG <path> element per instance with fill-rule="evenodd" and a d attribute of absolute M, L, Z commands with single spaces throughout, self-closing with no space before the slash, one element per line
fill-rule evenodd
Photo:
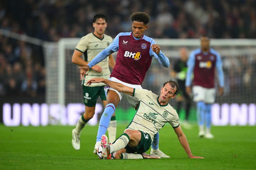
<path fill-rule="evenodd" d="M 109 78 L 109 80 L 110 80 L 110 81 L 114 81 L 114 82 L 121 83 L 121 84 L 126 85 L 126 86 L 131 87 L 131 88 L 142 89 L 141 85 L 131 85 L 131 84 L 122 82 L 122 81 L 120 81 L 119 79 L 114 78 L 114 77 Z M 111 88 L 111 87 L 109 87 L 109 86 L 105 86 L 105 87 L 104 87 L 104 90 L 105 90 L 105 95 L 106 95 L 106 96 L 107 96 L 107 91 L 108 91 L 108 90 L 113 90 L 113 91 L 117 92 L 117 94 L 118 94 L 119 97 L 120 97 L 120 101 L 121 101 L 122 98 L 124 97 L 124 98 L 127 100 L 127 102 L 131 104 L 131 106 L 132 106 L 133 108 L 135 108 L 136 105 L 139 103 L 139 101 L 138 101 L 138 99 L 137 99 L 136 97 L 132 97 L 132 96 L 127 95 L 127 94 L 125 94 L 125 93 L 123 93 L 123 92 L 119 92 L 119 91 L 117 91 L 117 90 L 115 90 L 115 89 L 113 89 L 113 88 Z M 119 101 L 119 102 L 120 102 L 120 101 Z"/>

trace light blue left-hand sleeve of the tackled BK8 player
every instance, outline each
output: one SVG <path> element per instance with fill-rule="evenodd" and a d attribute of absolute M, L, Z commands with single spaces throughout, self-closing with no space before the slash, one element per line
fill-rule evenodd
<path fill-rule="evenodd" d="M 119 49 L 119 34 L 115 37 L 113 42 L 103 51 L 101 51 L 97 56 L 94 57 L 94 59 L 88 63 L 89 68 L 95 66 L 107 56 L 112 54 L 113 52 L 116 52 Z"/>

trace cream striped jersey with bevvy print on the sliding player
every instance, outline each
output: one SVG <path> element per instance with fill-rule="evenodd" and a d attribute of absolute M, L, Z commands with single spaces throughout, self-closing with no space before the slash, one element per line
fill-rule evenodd
<path fill-rule="evenodd" d="M 149 133 L 152 141 L 154 135 L 169 122 L 173 128 L 179 126 L 176 110 L 167 103 L 161 105 L 159 96 L 146 89 L 133 89 L 133 96 L 139 100 L 137 111 L 126 129 L 140 130 Z"/>

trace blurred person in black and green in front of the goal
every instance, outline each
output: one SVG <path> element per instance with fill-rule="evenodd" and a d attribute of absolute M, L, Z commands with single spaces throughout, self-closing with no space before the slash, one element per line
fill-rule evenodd
<path fill-rule="evenodd" d="M 178 101 L 177 113 L 180 114 L 180 107 L 185 100 L 185 121 L 182 124 L 183 127 L 190 129 L 191 125 L 188 123 L 189 110 L 191 106 L 190 96 L 186 93 L 185 80 L 187 73 L 187 59 L 188 50 L 186 48 L 180 48 L 180 59 L 174 64 L 174 68 L 171 71 L 171 76 L 177 79 L 177 83 L 180 86 L 180 93 L 175 97 Z"/>

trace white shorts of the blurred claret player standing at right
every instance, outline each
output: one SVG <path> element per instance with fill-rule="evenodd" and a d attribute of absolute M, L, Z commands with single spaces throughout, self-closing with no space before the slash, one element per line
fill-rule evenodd
<path fill-rule="evenodd" d="M 203 101 L 205 103 L 212 104 L 215 102 L 216 90 L 215 88 L 205 88 L 202 86 L 195 85 L 192 87 L 193 101 Z"/>

